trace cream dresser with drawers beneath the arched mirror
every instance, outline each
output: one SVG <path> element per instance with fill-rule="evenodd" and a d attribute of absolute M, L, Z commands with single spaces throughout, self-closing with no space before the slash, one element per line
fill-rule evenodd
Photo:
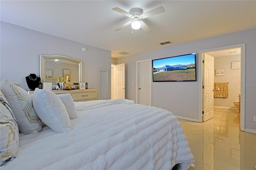
<path fill-rule="evenodd" d="M 85 90 L 53 90 L 55 94 L 66 94 L 70 93 L 73 101 L 92 101 L 98 100 L 98 89 L 85 89 Z M 28 94 L 32 95 L 34 91 L 28 91 Z"/>

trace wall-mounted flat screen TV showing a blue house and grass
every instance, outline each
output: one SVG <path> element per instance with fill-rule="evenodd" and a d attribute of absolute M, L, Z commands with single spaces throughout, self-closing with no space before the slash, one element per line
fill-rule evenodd
<path fill-rule="evenodd" d="M 152 60 L 153 82 L 196 81 L 196 53 Z"/>

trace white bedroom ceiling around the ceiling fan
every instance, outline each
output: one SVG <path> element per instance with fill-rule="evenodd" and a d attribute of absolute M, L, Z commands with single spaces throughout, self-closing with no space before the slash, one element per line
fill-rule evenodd
<path fill-rule="evenodd" d="M 159 6 L 164 13 L 143 20 L 150 33 L 132 34 L 130 25 L 114 31 L 131 19 L 112 8 L 147 12 Z M 1 0 L 0 7 L 1 21 L 106 49 L 114 58 L 256 28 L 255 0 Z M 172 43 L 159 44 L 166 41 Z M 118 54 L 123 51 L 129 54 Z"/>

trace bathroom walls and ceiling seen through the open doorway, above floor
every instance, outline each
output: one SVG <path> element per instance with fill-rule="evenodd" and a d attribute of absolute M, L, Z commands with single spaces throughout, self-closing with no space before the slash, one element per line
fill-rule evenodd
<path fill-rule="evenodd" d="M 223 49 L 207 54 L 214 57 L 215 90 L 219 89 L 214 91 L 214 107 L 233 109 L 240 113 L 240 108 L 234 105 L 234 101 L 239 101 L 241 90 L 241 48 Z M 227 89 L 218 88 L 218 84 L 222 82 L 226 83 Z"/>

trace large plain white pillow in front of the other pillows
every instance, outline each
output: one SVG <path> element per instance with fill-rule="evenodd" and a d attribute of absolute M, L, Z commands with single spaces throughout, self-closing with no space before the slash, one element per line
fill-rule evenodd
<path fill-rule="evenodd" d="M 36 88 L 33 94 L 33 106 L 42 121 L 56 133 L 71 130 L 71 122 L 65 105 L 52 91 Z"/>

